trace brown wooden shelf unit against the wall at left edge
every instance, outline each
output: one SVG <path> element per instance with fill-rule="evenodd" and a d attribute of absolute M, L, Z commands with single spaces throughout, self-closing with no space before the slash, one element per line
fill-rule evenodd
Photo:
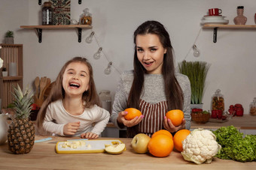
<path fill-rule="evenodd" d="M 1 43 L 1 58 L 4 61 L 3 67 L 8 70 L 8 63 L 17 63 L 17 76 L 2 76 L 0 73 L 0 98 L 2 107 L 7 107 L 14 100 L 11 94 L 12 86 L 20 85 L 23 88 L 23 44 Z"/>

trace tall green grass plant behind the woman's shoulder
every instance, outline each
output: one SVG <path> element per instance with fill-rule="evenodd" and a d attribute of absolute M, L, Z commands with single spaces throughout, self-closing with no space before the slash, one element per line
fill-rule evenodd
<path fill-rule="evenodd" d="M 178 63 L 178 71 L 188 77 L 191 85 L 191 106 L 193 108 L 203 108 L 203 93 L 205 88 L 206 75 L 209 64 L 204 61 L 182 61 Z"/>

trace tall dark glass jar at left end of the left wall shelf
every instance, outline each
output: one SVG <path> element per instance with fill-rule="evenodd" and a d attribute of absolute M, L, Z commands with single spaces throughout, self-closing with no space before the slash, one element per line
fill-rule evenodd
<path fill-rule="evenodd" d="M 44 2 L 44 7 L 41 10 L 42 25 L 53 25 L 53 8 L 50 1 Z"/>

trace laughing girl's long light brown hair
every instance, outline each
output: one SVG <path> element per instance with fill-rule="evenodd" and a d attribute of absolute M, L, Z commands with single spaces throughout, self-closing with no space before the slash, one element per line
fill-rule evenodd
<path fill-rule="evenodd" d="M 44 130 L 42 129 L 42 124 L 44 122 L 47 106 L 50 103 L 59 99 L 64 99 L 65 97 L 65 91 L 64 91 L 64 88 L 62 87 L 63 74 L 66 70 L 66 67 L 68 67 L 68 65 L 73 62 L 79 62 L 79 63 L 85 64 L 87 65 L 89 70 L 89 75 L 90 75 L 89 88 L 87 91 L 84 91 L 82 96 L 82 100 L 84 101 L 84 107 L 89 108 L 94 104 L 96 104 L 97 106 L 101 106 L 99 96 L 96 91 L 96 86 L 93 80 L 93 67 L 91 66 L 87 58 L 81 58 L 81 57 L 72 58 L 71 60 L 67 61 L 66 64 L 64 64 L 62 69 L 59 71 L 56 81 L 52 85 L 49 96 L 44 101 L 40 111 L 38 112 L 38 117 L 36 119 L 36 127 L 37 127 L 36 129 L 37 129 L 37 133 L 41 133 L 41 135 L 44 134 Z"/>

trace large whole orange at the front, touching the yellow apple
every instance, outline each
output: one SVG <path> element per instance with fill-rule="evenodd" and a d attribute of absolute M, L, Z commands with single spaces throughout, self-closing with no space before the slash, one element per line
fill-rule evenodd
<path fill-rule="evenodd" d="M 148 151 L 154 157 L 167 157 L 173 150 L 173 141 L 169 136 L 159 134 L 148 142 Z"/>

